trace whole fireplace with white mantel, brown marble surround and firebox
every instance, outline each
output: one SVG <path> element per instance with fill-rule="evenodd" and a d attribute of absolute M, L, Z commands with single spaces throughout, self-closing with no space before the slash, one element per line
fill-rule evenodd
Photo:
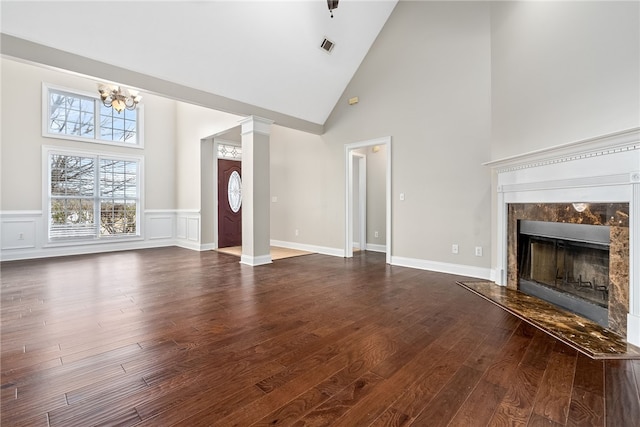
<path fill-rule="evenodd" d="M 513 290 L 523 281 L 544 291 L 584 291 L 571 298 L 606 306 L 606 317 L 601 316 L 606 327 L 640 345 L 640 128 L 486 165 L 496 173 L 497 184 L 495 282 Z M 576 241 L 527 231 L 529 225 L 520 234 L 524 221 L 599 226 L 603 235 L 608 227 L 608 251 L 606 238 Z M 530 252 L 519 258 L 519 250 Z M 547 264 L 549 270 L 542 273 Z"/>

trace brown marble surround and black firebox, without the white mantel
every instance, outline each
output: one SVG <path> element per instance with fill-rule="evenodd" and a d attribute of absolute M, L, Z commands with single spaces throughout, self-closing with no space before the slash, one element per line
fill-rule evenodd
<path fill-rule="evenodd" d="M 584 205 L 581 211 L 576 210 L 573 203 L 508 205 L 506 285 L 527 293 L 531 293 L 533 287 L 538 292 L 535 296 L 625 336 L 629 307 L 629 204 Z M 525 233 L 521 232 L 523 228 Z M 536 251 L 532 264 L 526 262 L 531 254 L 526 255 L 526 248 L 520 248 L 526 246 L 527 240 Z M 587 263 L 590 265 L 586 266 Z M 527 279 L 522 281 L 522 276 Z M 561 278 L 556 279 L 557 276 Z M 566 284 L 563 283 L 565 276 Z M 586 282 L 592 282 L 595 289 L 588 289 L 590 285 Z M 556 284 L 563 289 L 554 289 L 552 286 Z M 568 289 L 573 291 L 570 297 L 562 292 Z M 606 308 L 602 300 L 604 293 Z M 559 294 L 560 301 L 557 300 Z M 585 298 L 587 295 L 589 298 Z"/>

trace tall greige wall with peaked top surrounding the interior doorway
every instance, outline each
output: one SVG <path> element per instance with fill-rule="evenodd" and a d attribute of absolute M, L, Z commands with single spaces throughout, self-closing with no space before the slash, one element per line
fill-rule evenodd
<path fill-rule="evenodd" d="M 490 147 L 489 25 L 486 3 L 398 3 L 326 125 L 328 185 L 338 194 L 332 244 L 344 227 L 343 145 L 390 135 L 392 262 L 489 267 L 488 256 L 474 256 L 491 240 L 490 173 L 481 166 Z"/>

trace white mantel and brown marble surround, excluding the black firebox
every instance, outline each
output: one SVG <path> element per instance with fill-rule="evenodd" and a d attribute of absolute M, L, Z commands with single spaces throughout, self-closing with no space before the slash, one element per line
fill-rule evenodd
<path fill-rule="evenodd" d="M 497 177 L 495 282 L 517 289 L 519 219 L 613 225 L 609 329 L 640 345 L 640 128 L 486 165 Z"/>

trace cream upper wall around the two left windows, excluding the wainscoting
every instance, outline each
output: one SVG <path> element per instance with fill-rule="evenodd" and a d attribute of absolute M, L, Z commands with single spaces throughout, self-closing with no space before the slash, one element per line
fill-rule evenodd
<path fill-rule="evenodd" d="M 45 138 L 42 136 L 42 83 L 95 92 L 98 82 L 3 58 L 2 210 L 42 209 L 42 146 L 103 150 L 145 156 L 147 209 L 173 209 L 175 102 L 144 94 L 144 149 Z M 20 185 L 15 185 L 20 177 Z"/>

